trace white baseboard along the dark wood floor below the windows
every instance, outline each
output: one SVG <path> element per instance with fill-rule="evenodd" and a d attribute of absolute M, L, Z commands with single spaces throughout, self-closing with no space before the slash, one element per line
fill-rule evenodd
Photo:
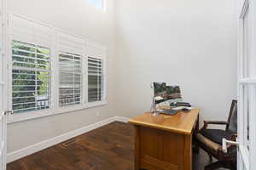
<path fill-rule="evenodd" d="M 108 118 L 106 120 L 103 120 L 102 122 L 96 122 L 94 124 L 90 124 L 86 127 L 82 127 L 79 128 L 77 130 L 74 130 L 72 132 L 69 133 L 64 133 L 60 136 L 57 136 L 53 139 L 48 139 L 48 140 L 44 140 L 43 142 L 40 142 L 38 144 L 32 144 L 26 148 L 23 148 L 21 150 L 16 150 L 14 152 L 10 152 L 9 154 L 7 154 L 7 162 L 11 162 L 11 161 L 15 161 L 18 160 L 22 157 L 25 156 L 29 156 L 32 155 L 35 152 L 38 152 L 40 150 L 44 150 L 46 148 L 49 148 L 50 146 L 53 146 L 55 144 L 60 144 L 61 142 L 64 142 L 65 140 L 68 139 L 72 139 L 76 136 L 79 136 L 83 133 L 87 133 L 91 130 L 94 130 L 98 127 L 102 127 L 104 125 L 107 125 L 110 122 L 115 122 L 115 121 L 119 121 L 119 122 L 128 122 L 128 118 L 125 117 L 121 117 L 121 116 L 113 116 L 111 118 Z"/>

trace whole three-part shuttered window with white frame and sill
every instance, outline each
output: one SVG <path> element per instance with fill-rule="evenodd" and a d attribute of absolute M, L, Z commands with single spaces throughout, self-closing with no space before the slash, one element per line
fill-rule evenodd
<path fill-rule="evenodd" d="M 106 104 L 102 45 L 16 14 L 8 20 L 9 122 Z"/>

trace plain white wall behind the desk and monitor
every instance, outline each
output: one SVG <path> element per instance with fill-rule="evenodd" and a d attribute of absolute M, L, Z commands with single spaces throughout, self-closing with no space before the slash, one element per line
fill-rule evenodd
<path fill-rule="evenodd" d="M 150 82 L 170 82 L 201 120 L 225 120 L 236 98 L 235 16 L 232 0 L 116 1 L 116 111 L 148 111 Z"/>

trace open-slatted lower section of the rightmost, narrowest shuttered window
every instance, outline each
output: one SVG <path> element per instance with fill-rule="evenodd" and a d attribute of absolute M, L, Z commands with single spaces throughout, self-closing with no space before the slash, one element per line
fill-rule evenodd
<path fill-rule="evenodd" d="M 103 60 L 88 58 L 88 101 L 103 100 Z"/>

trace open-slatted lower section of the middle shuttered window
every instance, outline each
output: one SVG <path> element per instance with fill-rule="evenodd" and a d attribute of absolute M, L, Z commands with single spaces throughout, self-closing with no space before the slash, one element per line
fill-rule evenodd
<path fill-rule="evenodd" d="M 79 54 L 61 53 L 60 105 L 78 105 L 82 98 L 82 62 Z"/>

